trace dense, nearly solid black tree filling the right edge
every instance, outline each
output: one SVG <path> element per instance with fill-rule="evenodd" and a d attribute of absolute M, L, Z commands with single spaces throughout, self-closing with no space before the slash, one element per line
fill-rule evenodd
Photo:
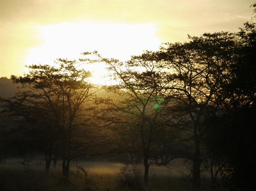
<path fill-rule="evenodd" d="M 237 34 L 237 60 L 230 66 L 229 83 L 222 93 L 222 113 L 207 119 L 207 147 L 221 169 L 226 186 L 232 190 L 253 190 L 256 125 L 256 28 L 246 22 Z M 221 149 L 220 149 L 221 148 Z"/>

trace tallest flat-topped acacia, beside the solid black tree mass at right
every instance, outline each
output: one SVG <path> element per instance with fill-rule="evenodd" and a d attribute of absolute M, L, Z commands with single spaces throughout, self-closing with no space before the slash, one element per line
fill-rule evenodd
<path fill-rule="evenodd" d="M 182 110 L 191 124 L 195 142 L 193 184 L 200 183 L 202 156 L 200 145 L 204 136 L 205 113 L 209 107 L 217 112 L 221 105 L 223 84 L 228 83 L 229 67 L 236 60 L 236 36 L 232 33 L 189 36 L 190 42 L 167 43 L 158 52 L 159 67 L 168 68 L 171 81 L 165 89 L 173 90 L 172 97 L 183 103 Z M 211 112 L 212 112 L 211 110 Z M 187 125 L 186 125 L 187 126 Z"/>

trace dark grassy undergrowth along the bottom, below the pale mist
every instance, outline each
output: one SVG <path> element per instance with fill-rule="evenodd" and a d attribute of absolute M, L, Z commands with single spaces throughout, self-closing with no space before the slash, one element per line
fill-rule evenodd
<path fill-rule="evenodd" d="M 64 179 L 61 167 L 50 168 L 46 173 L 44 165 L 31 166 L 28 171 L 21 165 L 2 164 L 0 191 L 194 191 L 189 182 L 161 174 L 154 167 L 149 173 L 148 187 L 143 184 L 143 170 L 133 166 L 125 165 L 115 173 L 77 168 L 71 168 L 69 178 Z M 195 191 L 212 190 L 203 184 Z"/>

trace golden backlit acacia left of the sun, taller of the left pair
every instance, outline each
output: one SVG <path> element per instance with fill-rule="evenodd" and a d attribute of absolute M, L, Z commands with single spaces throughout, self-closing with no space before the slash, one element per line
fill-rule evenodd
<path fill-rule="evenodd" d="M 97 90 L 87 80 L 90 72 L 77 69 L 75 60 L 58 59 L 56 65 L 29 66 L 28 74 L 12 76 L 12 80 L 31 90 L 29 99 L 34 100 L 31 104 L 42 109 L 51 124 L 47 128 L 55 129 L 57 136 L 53 139 L 58 140 L 61 148 L 63 176 L 68 177 L 70 161 L 96 145 L 95 140 L 88 137 L 89 121 L 95 114 L 94 106 L 89 103 Z"/>

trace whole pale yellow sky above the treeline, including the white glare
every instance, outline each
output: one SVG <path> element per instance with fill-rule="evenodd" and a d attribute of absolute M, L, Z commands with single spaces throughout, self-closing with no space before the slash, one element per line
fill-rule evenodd
<path fill-rule="evenodd" d="M 122 61 L 252 21 L 256 0 L 0 0 L 0 77 L 98 52 Z M 90 66 L 97 75 L 102 66 Z"/>

